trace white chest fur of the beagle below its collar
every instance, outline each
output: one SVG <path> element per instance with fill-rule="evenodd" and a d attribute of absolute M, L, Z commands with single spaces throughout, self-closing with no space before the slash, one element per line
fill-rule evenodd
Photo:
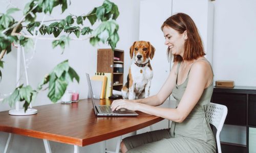
<path fill-rule="evenodd" d="M 149 67 L 139 67 L 134 63 L 131 65 L 131 73 L 136 93 L 141 93 L 145 89 L 145 85 L 153 78 L 153 71 Z"/>

